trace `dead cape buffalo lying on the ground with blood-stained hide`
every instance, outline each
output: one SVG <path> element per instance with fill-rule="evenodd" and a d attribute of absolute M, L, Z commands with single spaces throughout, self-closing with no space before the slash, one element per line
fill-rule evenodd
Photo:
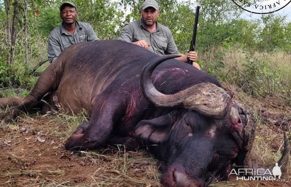
<path fill-rule="evenodd" d="M 90 114 L 65 149 L 146 143 L 161 161 L 161 182 L 168 187 L 226 180 L 233 165 L 258 168 L 248 156 L 256 128 L 252 115 L 215 78 L 174 57 L 122 41 L 73 45 L 49 65 L 28 96 L 1 98 L 2 106 L 12 107 L 0 118 L 2 123 L 15 118 L 49 93 L 45 99 L 65 111 Z M 279 165 L 288 156 L 285 136 Z"/>

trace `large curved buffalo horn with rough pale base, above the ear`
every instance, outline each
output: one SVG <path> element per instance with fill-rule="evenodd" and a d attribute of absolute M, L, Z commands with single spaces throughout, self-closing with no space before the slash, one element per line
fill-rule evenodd
<path fill-rule="evenodd" d="M 141 87 L 146 99 L 158 107 L 180 106 L 211 117 L 223 116 L 228 109 L 230 96 L 215 84 L 195 84 L 176 94 L 162 94 L 155 88 L 151 78 L 154 69 L 160 63 L 176 57 L 178 56 L 158 57 L 144 67 L 141 75 Z"/>

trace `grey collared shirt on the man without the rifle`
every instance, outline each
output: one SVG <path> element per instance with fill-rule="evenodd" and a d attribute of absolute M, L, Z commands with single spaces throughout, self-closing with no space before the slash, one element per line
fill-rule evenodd
<path fill-rule="evenodd" d="M 49 62 L 55 61 L 61 52 L 72 44 L 95 40 L 99 40 L 99 38 L 89 23 L 76 21 L 74 34 L 66 31 L 63 24 L 61 24 L 49 34 Z"/>

